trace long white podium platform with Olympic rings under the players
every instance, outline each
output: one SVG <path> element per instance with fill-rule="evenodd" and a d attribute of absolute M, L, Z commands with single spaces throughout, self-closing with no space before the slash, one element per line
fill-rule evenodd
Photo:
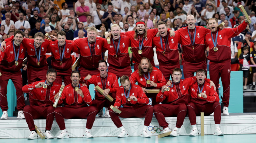
<path fill-rule="evenodd" d="M 129 132 L 129 136 L 140 136 L 144 126 L 145 118 L 120 118 L 123 126 Z M 169 123 L 171 129 L 175 128 L 176 117 L 165 118 Z M 34 120 L 35 125 L 42 131 L 45 132 L 46 119 L 36 119 Z M 200 117 L 196 117 L 196 124 L 199 132 L 201 132 Z M 212 135 L 215 129 L 215 123 L 213 116 L 204 117 L 204 134 Z M 82 132 L 85 130 L 86 119 L 65 119 L 65 125 L 69 137 L 82 137 Z M 158 126 L 157 119 L 153 116 L 150 126 Z M 157 127 L 155 127 L 157 129 Z M 184 123 L 180 129 L 181 135 L 189 135 L 192 126 L 190 125 L 189 118 L 186 117 Z M 256 134 L 256 113 L 233 113 L 229 116 L 221 116 L 220 129 L 224 134 Z M 149 127 L 151 130 L 151 127 Z M 150 136 L 157 136 L 162 134 L 163 131 L 157 130 L 152 134 L 148 130 Z M 162 130 L 162 127 L 161 127 Z M 60 128 L 56 123 L 55 119 L 52 124 L 52 129 L 50 130 L 54 138 L 60 134 Z M 93 127 L 92 135 L 94 137 L 109 137 L 118 136 L 120 134 L 120 129 L 112 122 L 111 118 L 98 118 L 96 117 Z M 30 130 L 25 119 L 17 119 L 16 117 L 11 117 L 7 120 L 0 120 L 0 138 L 27 138 L 30 135 Z"/>

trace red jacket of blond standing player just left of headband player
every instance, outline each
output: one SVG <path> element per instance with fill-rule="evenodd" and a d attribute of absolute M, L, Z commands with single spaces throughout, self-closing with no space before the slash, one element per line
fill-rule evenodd
<path fill-rule="evenodd" d="M 117 46 L 118 46 L 118 41 L 114 40 L 115 42 L 115 46 L 113 44 L 113 38 L 110 38 L 110 44 L 108 44 L 107 40 L 105 40 L 104 43 L 104 48 L 108 49 L 108 63 L 109 65 L 116 67 L 118 69 L 124 68 L 124 67 L 128 67 L 130 66 L 130 56 L 128 53 L 128 49 L 129 47 L 131 47 L 131 41 L 129 39 L 129 37 L 125 36 L 125 35 L 120 35 L 121 40 L 120 40 L 120 46 L 119 46 L 119 50 L 117 53 L 117 57 L 116 57 L 116 50 L 117 50 Z"/>

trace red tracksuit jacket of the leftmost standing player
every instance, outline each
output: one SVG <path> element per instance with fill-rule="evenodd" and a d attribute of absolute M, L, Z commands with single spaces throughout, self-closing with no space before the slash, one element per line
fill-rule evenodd
<path fill-rule="evenodd" d="M 18 62 L 19 65 L 15 65 L 15 53 L 18 54 L 19 47 L 15 45 L 15 51 L 13 50 L 13 40 L 6 42 L 6 50 L 0 51 L 0 71 L 17 72 L 22 68 L 22 62 L 26 53 L 26 47 L 21 43 Z"/>

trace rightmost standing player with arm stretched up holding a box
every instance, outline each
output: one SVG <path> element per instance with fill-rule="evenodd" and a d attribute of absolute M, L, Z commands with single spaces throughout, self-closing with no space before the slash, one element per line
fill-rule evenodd
<path fill-rule="evenodd" d="M 250 20 L 250 16 L 249 16 Z M 236 28 L 217 29 L 218 20 L 210 18 L 208 20 L 211 32 L 206 34 L 206 47 L 209 47 L 208 60 L 210 61 L 210 79 L 215 85 L 219 85 L 221 78 L 223 86 L 223 99 L 224 105 L 223 115 L 229 115 L 228 104 L 230 96 L 230 69 L 231 69 L 231 49 L 230 39 L 241 33 L 247 26 L 247 20 Z M 219 94 L 219 89 L 217 88 Z"/>

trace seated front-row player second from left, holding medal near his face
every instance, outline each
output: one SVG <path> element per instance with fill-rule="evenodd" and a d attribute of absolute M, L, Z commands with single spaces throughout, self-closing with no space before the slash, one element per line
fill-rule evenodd
<path fill-rule="evenodd" d="M 59 104 L 64 103 L 64 107 L 58 107 L 54 110 L 56 122 L 58 123 L 60 130 L 62 130 L 60 135 L 57 136 L 57 139 L 69 138 L 64 118 L 87 118 L 86 130 L 83 132 L 83 138 L 93 138 L 90 129 L 92 129 L 97 114 L 97 108 L 93 106 L 88 107 L 88 105 L 92 105 L 92 97 L 88 88 L 80 85 L 80 73 L 78 71 L 73 71 L 70 78 L 72 83 L 65 86 L 61 99 L 59 100 Z M 77 87 L 78 89 L 76 89 Z M 58 93 L 55 95 L 54 100 L 56 100 L 56 98 L 59 98 Z"/>

